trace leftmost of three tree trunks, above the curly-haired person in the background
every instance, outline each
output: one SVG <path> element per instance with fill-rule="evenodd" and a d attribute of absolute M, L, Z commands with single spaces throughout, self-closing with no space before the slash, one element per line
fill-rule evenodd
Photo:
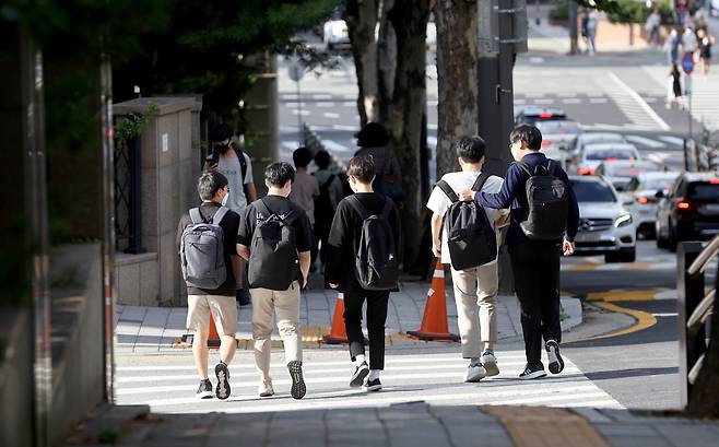
<path fill-rule="evenodd" d="M 357 73 L 357 110 L 360 123 L 377 120 L 379 85 L 377 79 L 377 39 L 375 30 L 379 21 L 381 0 L 347 0 L 346 24 Z"/>

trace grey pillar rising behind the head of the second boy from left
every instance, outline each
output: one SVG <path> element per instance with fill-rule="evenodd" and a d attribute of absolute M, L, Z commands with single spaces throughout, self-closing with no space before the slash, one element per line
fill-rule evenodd
<path fill-rule="evenodd" d="M 255 67 L 257 83 L 245 96 L 245 116 L 248 131 L 244 150 L 252 157 L 252 174 L 257 193 L 267 193 L 263 175 L 268 164 L 280 160 L 280 128 L 278 117 L 276 56 L 263 52 L 248 57 Z"/>

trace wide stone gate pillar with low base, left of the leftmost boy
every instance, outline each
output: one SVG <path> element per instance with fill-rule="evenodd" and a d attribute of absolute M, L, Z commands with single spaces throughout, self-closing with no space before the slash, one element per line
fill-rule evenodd
<path fill-rule="evenodd" d="M 143 114 L 152 103 L 157 106 L 157 115 L 140 137 L 142 239 L 150 256 L 118 256 L 117 296 L 119 304 L 180 305 L 186 299 L 176 246 L 177 224 L 180 215 L 199 202 L 190 188 L 196 170 L 199 174 L 192 146 L 197 102 L 195 97 L 137 98 L 116 104 L 114 113 Z M 154 261 L 152 254 L 156 254 Z M 153 262 L 156 268 L 149 266 Z"/>

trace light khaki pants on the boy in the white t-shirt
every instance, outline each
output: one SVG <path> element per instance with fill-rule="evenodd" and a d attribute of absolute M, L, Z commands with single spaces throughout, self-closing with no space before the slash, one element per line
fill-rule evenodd
<path fill-rule="evenodd" d="M 462 357 L 479 357 L 484 342 L 497 341 L 497 262 L 451 273 Z"/>

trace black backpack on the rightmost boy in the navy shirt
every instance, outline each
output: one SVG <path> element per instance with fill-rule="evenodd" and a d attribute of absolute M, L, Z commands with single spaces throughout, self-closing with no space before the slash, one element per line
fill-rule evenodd
<path fill-rule="evenodd" d="M 520 226 L 531 240 L 561 240 L 567 230 L 569 213 L 568 186 L 553 174 L 550 160 L 546 166 L 532 168 L 523 162 L 517 164 L 529 174 L 527 179 L 528 210 Z"/>

